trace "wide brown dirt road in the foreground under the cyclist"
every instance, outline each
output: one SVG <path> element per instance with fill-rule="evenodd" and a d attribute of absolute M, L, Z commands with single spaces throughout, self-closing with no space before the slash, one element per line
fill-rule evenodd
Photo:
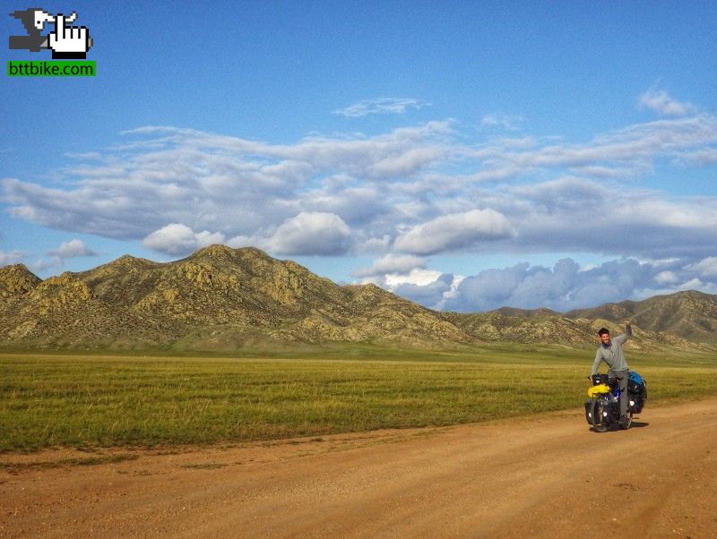
<path fill-rule="evenodd" d="M 634 425 L 591 432 L 578 411 L 125 460 L 0 455 L 0 536 L 717 536 L 717 399 Z"/>

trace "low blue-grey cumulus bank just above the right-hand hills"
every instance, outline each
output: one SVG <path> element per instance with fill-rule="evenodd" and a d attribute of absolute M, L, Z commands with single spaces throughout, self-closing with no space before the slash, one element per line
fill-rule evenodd
<path fill-rule="evenodd" d="M 566 258 L 552 268 L 528 262 L 512 267 L 482 270 L 466 278 L 431 270 L 414 270 L 412 276 L 375 279 L 393 293 L 430 308 L 458 312 L 484 312 L 500 307 L 557 312 L 593 307 L 626 299 L 641 300 L 652 295 L 695 289 L 707 294 L 717 291 L 717 274 L 707 277 L 713 261 L 685 264 L 674 261 L 624 259 L 581 267 Z"/>

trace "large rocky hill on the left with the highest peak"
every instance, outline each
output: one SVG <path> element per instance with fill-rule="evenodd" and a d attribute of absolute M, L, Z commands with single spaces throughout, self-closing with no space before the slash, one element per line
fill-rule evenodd
<path fill-rule="evenodd" d="M 229 351 L 272 342 L 472 340 L 379 287 L 340 287 L 253 248 L 212 245 L 164 264 L 123 256 L 81 273 L 33 277 L 22 266 L 0 274 L 5 347 Z"/>

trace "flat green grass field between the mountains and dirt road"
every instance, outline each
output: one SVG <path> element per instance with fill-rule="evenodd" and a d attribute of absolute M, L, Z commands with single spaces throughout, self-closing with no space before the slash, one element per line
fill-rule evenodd
<path fill-rule="evenodd" d="M 0 451 L 176 446 L 574 409 L 594 352 L 336 347 L 320 357 L 0 355 Z M 717 396 L 717 358 L 640 355 L 650 406 Z"/>

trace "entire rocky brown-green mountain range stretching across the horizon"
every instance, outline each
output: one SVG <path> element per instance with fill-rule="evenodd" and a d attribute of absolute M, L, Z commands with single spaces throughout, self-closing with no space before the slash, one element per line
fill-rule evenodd
<path fill-rule="evenodd" d="M 635 324 L 635 347 L 717 349 L 717 296 L 681 292 L 566 314 L 436 312 L 374 285 L 339 286 L 255 248 L 166 263 L 123 256 L 45 280 L 0 268 L 0 348 L 232 353 L 328 343 L 450 348 L 506 341 L 593 347 Z"/>

